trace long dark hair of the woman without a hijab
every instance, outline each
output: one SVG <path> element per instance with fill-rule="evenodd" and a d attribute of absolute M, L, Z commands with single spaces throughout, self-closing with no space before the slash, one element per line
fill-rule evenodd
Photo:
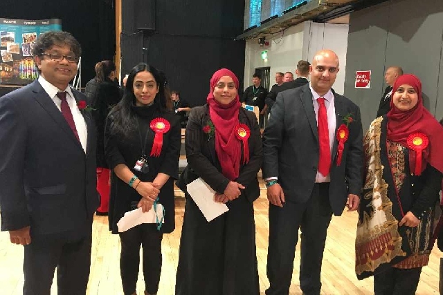
<path fill-rule="evenodd" d="M 109 113 L 109 116 L 112 117 L 114 121 L 111 125 L 111 133 L 125 135 L 128 131 L 134 130 L 134 126 L 136 126 L 136 116 L 131 107 L 136 103 L 136 96 L 134 95 L 134 78 L 138 73 L 145 71 L 152 74 L 157 86 L 159 86 L 159 93 L 157 93 L 154 98 L 154 104 L 157 105 L 161 113 L 168 111 L 165 97 L 165 78 L 162 77 L 159 70 L 153 66 L 144 63 L 138 64 L 132 68 L 127 77 L 123 98 Z"/>

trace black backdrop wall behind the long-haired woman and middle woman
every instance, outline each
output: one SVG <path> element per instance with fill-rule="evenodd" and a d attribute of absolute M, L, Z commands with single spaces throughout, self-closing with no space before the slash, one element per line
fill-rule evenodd
<path fill-rule="evenodd" d="M 156 0 L 156 30 L 140 30 L 137 19 L 149 13 L 146 2 L 125 0 L 122 7 L 122 75 L 140 61 L 165 73 L 172 90 L 191 106 L 206 102 L 210 77 L 219 68 L 232 70 L 243 90 L 244 1 Z"/>

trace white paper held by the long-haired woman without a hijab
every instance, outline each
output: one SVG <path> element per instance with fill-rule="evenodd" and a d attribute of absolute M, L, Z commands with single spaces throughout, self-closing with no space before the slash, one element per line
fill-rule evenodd
<path fill-rule="evenodd" d="M 118 232 L 121 233 L 123 231 L 127 231 L 128 229 L 132 229 L 132 227 L 141 225 L 142 223 L 156 223 L 157 216 L 159 216 L 159 220 L 161 220 L 163 218 L 163 205 L 156 204 L 156 206 L 157 215 L 154 211 L 154 206 L 150 209 L 150 211 L 145 213 L 143 213 L 141 208 L 126 212 L 125 216 L 120 218 L 120 220 L 117 222 Z M 164 219 L 163 223 L 165 223 Z"/>

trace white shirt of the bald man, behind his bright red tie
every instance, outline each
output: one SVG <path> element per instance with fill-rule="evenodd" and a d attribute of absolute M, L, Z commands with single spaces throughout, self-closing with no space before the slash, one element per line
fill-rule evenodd
<path fill-rule="evenodd" d="M 318 97 L 322 97 L 320 95 L 318 95 L 318 93 L 316 93 L 314 91 L 314 89 L 312 89 L 311 84 L 309 84 L 309 88 L 311 88 L 311 93 L 312 93 L 312 103 L 314 104 L 314 111 L 316 112 L 316 120 L 318 122 L 318 108 L 320 106 L 318 106 L 318 102 L 317 99 Z M 326 106 L 326 115 L 327 115 L 327 129 L 329 130 L 329 148 L 331 149 L 331 155 L 332 155 L 332 145 L 334 144 L 334 140 L 335 140 L 335 129 L 336 129 L 336 117 L 335 117 L 335 98 L 334 98 L 334 94 L 332 93 L 332 91 L 329 89 L 329 91 L 323 95 L 323 97 L 325 98 L 325 106 Z M 318 126 L 318 123 L 317 123 Z M 332 161 L 332 157 L 331 157 L 331 161 Z M 332 166 L 333 163 L 331 163 Z M 316 175 L 316 182 L 330 182 L 331 181 L 331 176 L 328 175 L 323 175 L 322 173 L 320 173 L 319 171 L 317 171 L 317 175 Z"/>

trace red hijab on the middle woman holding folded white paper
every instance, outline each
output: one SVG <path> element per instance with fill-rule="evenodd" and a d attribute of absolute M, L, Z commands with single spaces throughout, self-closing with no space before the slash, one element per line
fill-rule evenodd
<path fill-rule="evenodd" d="M 242 104 L 238 93 L 230 104 L 221 104 L 215 99 L 215 86 L 224 76 L 231 77 L 238 90 L 239 83 L 234 73 L 227 68 L 221 68 L 210 79 L 210 91 L 206 101 L 209 105 L 210 120 L 215 126 L 215 152 L 221 164 L 221 173 L 229 180 L 235 180 L 240 171 L 242 146 L 235 136 L 234 129 L 239 124 L 238 113 Z"/>

